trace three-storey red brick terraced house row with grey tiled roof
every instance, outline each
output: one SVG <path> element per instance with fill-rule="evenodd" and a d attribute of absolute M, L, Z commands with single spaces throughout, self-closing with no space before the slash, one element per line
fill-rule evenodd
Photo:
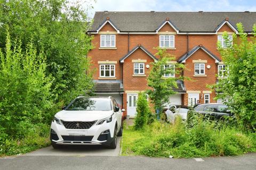
<path fill-rule="evenodd" d="M 252 34 L 255 12 L 96 12 L 88 33 L 94 36 L 90 50 L 95 93 L 113 96 L 126 114 L 135 115 L 138 92 L 148 89 L 151 62 L 158 59 L 154 47 L 165 48 L 176 61 L 186 66 L 182 74 L 193 81 L 177 81 L 177 94 L 170 104 L 194 105 L 221 102 L 207 88 L 225 78 L 217 42 L 225 48 L 222 35 L 237 33 L 236 23 Z M 177 75 L 166 75 L 177 76 Z"/>

